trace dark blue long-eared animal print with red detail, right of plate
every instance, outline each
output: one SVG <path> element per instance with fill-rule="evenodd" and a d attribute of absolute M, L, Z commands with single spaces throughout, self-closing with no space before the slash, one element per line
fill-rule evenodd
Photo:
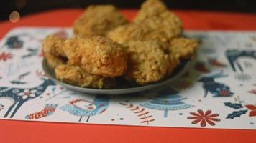
<path fill-rule="evenodd" d="M 204 97 L 207 96 L 208 92 L 214 94 L 214 97 L 230 97 L 234 94 L 226 84 L 214 81 L 215 78 L 219 77 L 227 77 L 227 75 L 224 75 L 223 71 L 221 71 L 217 74 L 201 77 L 201 79 L 198 80 L 198 82 L 203 82 Z"/>

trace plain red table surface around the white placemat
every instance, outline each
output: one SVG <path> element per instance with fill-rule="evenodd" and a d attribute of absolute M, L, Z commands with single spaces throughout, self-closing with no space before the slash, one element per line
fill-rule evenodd
<path fill-rule="evenodd" d="M 17 26 L 71 26 L 81 9 L 60 9 L 0 23 L 0 38 Z M 132 19 L 137 10 L 122 10 Z M 175 11 L 185 29 L 256 30 L 256 14 Z M 256 130 L 131 127 L 0 120 L 0 142 L 256 142 Z"/>

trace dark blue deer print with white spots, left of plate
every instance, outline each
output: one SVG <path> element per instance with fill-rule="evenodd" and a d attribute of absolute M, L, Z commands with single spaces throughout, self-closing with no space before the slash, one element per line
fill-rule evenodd
<path fill-rule="evenodd" d="M 10 118 L 14 117 L 14 114 L 18 111 L 22 104 L 29 101 L 30 99 L 35 99 L 39 97 L 48 86 L 55 85 L 50 79 L 42 79 L 42 84 L 33 88 L 12 88 L 12 87 L 0 87 L 0 97 L 6 97 L 8 99 L 12 99 L 13 104 L 7 110 L 6 114 L 4 114 L 4 118 L 8 117 L 12 109 L 14 108 Z"/>

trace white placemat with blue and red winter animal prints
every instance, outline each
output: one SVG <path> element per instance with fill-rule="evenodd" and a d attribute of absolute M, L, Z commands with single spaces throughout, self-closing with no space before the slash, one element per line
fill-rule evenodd
<path fill-rule="evenodd" d="M 256 129 L 256 31 L 186 31 L 197 58 L 165 88 L 122 95 L 65 89 L 42 71 L 42 40 L 70 29 L 17 28 L 0 44 L 0 118 L 152 127 Z"/>

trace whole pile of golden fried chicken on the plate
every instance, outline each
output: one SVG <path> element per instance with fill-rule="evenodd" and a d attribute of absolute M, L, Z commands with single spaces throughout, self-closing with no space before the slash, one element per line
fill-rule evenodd
<path fill-rule="evenodd" d="M 145 85 L 170 76 L 180 59 L 196 55 L 198 41 L 182 33 L 160 0 L 145 1 L 132 22 L 112 5 L 95 5 L 76 19 L 73 38 L 47 36 L 42 47 L 60 81 L 108 89 L 119 77 Z"/>

